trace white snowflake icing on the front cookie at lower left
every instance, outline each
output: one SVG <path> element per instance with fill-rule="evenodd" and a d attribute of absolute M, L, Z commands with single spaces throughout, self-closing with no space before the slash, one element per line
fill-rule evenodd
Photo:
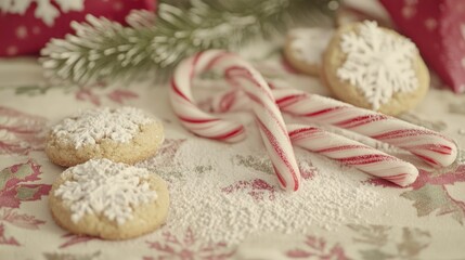
<path fill-rule="evenodd" d="M 100 214 L 118 225 L 132 219 L 132 207 L 153 202 L 157 193 L 144 179 L 146 169 L 113 162 L 108 159 L 89 160 L 63 172 L 69 178 L 54 196 L 70 205 L 72 221 L 78 222 L 85 214 Z"/>

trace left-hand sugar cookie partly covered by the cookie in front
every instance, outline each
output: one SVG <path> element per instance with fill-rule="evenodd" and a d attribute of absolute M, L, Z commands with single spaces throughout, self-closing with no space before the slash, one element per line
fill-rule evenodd
<path fill-rule="evenodd" d="M 55 125 L 46 153 L 65 167 L 92 158 L 132 165 L 155 155 L 164 136 L 162 122 L 139 108 L 93 108 Z"/>

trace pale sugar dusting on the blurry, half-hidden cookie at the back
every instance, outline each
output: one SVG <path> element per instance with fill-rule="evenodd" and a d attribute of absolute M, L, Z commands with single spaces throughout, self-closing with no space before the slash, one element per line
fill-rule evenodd
<path fill-rule="evenodd" d="M 289 32 L 290 48 L 296 52 L 296 58 L 319 65 L 334 30 L 327 28 L 299 28 Z"/>

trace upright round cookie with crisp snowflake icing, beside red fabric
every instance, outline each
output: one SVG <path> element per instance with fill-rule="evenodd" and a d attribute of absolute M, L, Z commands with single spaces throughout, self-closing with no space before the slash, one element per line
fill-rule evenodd
<path fill-rule="evenodd" d="M 336 31 L 323 57 L 322 79 L 339 100 L 392 116 L 415 107 L 429 88 L 429 72 L 415 44 L 370 21 Z"/>

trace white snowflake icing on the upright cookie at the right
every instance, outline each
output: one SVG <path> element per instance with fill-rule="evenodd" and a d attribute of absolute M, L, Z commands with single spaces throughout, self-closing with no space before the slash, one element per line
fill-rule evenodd
<path fill-rule="evenodd" d="M 415 44 L 384 31 L 375 22 L 365 21 L 358 29 L 359 34 L 341 36 L 340 48 L 347 60 L 337 69 L 338 78 L 362 91 L 373 109 L 389 102 L 397 92 L 415 90 Z"/>

